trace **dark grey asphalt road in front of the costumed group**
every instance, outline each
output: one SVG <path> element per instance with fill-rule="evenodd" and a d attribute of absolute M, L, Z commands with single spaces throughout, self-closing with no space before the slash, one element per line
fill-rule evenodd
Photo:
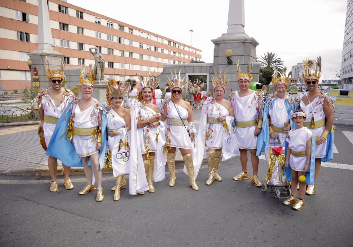
<path fill-rule="evenodd" d="M 104 175 L 106 199 L 95 192 L 79 195 L 75 186 L 49 192 L 48 177 L 0 176 L 0 246 L 352 246 L 353 170 L 323 167 L 316 194 L 295 211 L 250 180 L 233 181 L 239 157 L 222 162 L 223 181 L 205 185 L 208 170 L 199 172 L 199 191 L 178 170 L 175 187 L 166 179 L 156 192 L 113 201 L 111 175 Z M 266 164 L 260 160 L 259 178 Z M 251 165 L 249 165 L 251 172 Z M 43 180 L 44 179 L 44 180 Z M 58 177 L 58 179 L 63 179 Z"/>

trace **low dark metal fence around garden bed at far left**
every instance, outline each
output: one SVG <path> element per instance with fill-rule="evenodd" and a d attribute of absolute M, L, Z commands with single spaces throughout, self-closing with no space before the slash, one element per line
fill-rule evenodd
<path fill-rule="evenodd" d="M 35 110 L 0 110 L 0 123 L 39 120 Z"/>

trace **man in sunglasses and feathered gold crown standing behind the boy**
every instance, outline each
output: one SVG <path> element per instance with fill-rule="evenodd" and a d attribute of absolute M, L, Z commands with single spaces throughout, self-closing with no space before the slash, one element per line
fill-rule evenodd
<path fill-rule="evenodd" d="M 304 62 L 303 78 L 308 92 L 300 96 L 300 109 L 307 114 L 304 126 L 310 128 L 315 137 L 315 179 L 308 185 L 306 194 L 315 194 L 315 182 L 318 177 L 321 161 L 327 162 L 333 157 L 333 104 L 330 97 L 317 89 L 321 77 L 321 57 L 317 58 L 318 71 L 309 73 L 308 60 Z"/>

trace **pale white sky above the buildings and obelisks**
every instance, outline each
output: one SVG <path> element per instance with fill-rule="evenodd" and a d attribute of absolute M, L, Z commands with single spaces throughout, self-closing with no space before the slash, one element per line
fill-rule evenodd
<path fill-rule="evenodd" d="M 202 50 L 213 62 L 211 39 L 227 31 L 229 0 L 68 0 Z M 305 58 L 322 58 L 322 79 L 341 69 L 347 0 L 245 0 L 245 32 L 260 44 L 257 56 L 275 52 L 289 70 Z"/>

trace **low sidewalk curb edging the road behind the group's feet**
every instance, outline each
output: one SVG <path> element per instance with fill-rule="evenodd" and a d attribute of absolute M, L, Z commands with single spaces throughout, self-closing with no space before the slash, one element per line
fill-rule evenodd
<path fill-rule="evenodd" d="M 202 163 L 207 162 L 207 157 L 203 157 Z M 166 163 L 167 165 L 167 163 Z M 184 160 L 181 157 L 175 158 L 175 166 L 183 166 Z M 113 173 L 113 170 L 102 170 L 103 174 Z M 71 167 L 71 175 L 84 175 L 83 167 Z M 50 176 L 48 166 L 30 167 L 30 168 L 11 168 L 11 169 L 0 169 L 0 175 L 4 176 Z M 62 165 L 58 165 L 56 170 L 57 176 L 64 176 L 64 170 Z"/>

